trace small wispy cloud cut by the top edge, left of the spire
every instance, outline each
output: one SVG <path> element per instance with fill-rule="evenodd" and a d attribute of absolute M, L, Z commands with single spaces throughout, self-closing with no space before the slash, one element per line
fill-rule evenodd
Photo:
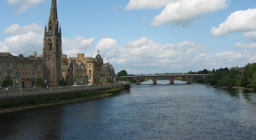
<path fill-rule="evenodd" d="M 23 13 L 27 9 L 37 6 L 46 0 L 6 0 L 10 5 L 17 7 L 17 13 Z"/>

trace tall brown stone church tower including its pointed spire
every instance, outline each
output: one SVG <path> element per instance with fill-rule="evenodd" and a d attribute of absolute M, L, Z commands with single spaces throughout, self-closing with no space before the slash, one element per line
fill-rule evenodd
<path fill-rule="evenodd" d="M 62 78 L 61 28 L 57 17 L 57 3 L 52 0 L 48 28 L 45 25 L 43 38 L 43 62 L 50 70 L 49 86 L 58 86 Z"/>

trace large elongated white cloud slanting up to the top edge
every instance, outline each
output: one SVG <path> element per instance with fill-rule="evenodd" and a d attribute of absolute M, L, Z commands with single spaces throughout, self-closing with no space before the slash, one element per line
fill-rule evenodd
<path fill-rule="evenodd" d="M 187 25 L 203 14 L 214 12 L 227 6 L 226 0 L 180 0 L 179 2 L 167 4 L 163 11 L 158 16 L 155 16 L 151 25 L 162 26 L 167 23 Z"/>

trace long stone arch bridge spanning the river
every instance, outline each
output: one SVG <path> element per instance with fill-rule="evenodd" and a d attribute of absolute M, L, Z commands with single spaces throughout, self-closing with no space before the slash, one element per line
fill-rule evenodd
<path fill-rule="evenodd" d="M 152 81 L 153 81 L 153 84 L 157 84 L 156 81 L 158 80 L 158 78 L 161 78 L 161 77 L 166 77 L 167 79 L 170 80 L 170 84 L 174 84 L 174 80 L 177 78 L 177 77 L 184 77 L 186 80 L 187 80 L 187 83 L 191 83 L 192 82 L 192 79 L 195 78 L 195 77 L 201 77 L 204 79 L 204 82 L 205 82 L 205 79 L 206 77 L 208 76 L 208 74 L 167 74 L 167 75 L 135 75 L 135 76 L 122 76 L 121 78 L 132 78 L 132 79 L 135 79 L 137 84 L 140 84 L 140 80 L 142 80 L 143 78 L 147 77 L 147 78 L 150 78 Z"/>

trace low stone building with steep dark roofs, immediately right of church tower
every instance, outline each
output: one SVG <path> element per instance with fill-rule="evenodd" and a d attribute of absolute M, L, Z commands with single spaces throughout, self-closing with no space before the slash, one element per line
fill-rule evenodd
<path fill-rule="evenodd" d="M 62 66 L 62 75 L 68 85 L 74 82 L 87 84 L 86 68 L 83 62 L 77 64 L 76 60 L 72 60 L 68 66 Z"/>

